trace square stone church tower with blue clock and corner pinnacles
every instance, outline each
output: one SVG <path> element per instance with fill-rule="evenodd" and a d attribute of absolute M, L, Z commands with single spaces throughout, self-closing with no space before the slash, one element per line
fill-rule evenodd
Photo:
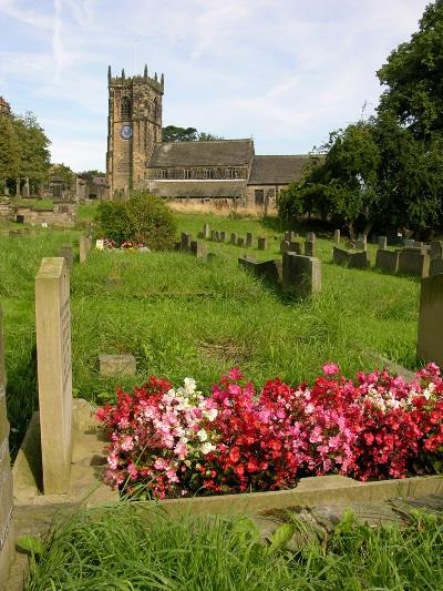
<path fill-rule="evenodd" d="M 143 188 L 146 165 L 155 142 L 162 141 L 164 77 L 112 77 L 107 70 L 109 113 L 106 182 L 111 198 Z"/>

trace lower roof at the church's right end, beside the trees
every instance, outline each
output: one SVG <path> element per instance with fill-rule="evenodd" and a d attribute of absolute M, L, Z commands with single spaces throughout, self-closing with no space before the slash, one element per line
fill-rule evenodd
<path fill-rule="evenodd" d="M 289 184 L 301 177 L 310 156 L 254 156 L 250 185 Z"/>

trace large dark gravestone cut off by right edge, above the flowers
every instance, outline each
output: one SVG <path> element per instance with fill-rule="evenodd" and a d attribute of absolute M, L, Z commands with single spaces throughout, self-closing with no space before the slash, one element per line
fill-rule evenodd
<path fill-rule="evenodd" d="M 422 279 L 416 356 L 443 367 L 443 274 Z"/>

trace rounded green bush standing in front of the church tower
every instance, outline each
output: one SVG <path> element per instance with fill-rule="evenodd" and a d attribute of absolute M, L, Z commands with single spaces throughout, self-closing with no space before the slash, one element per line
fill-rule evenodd
<path fill-rule="evenodd" d="M 117 246 L 136 243 L 156 251 L 172 248 L 176 222 L 161 197 L 134 193 L 128 201 L 103 201 L 95 218 L 99 234 Z"/>

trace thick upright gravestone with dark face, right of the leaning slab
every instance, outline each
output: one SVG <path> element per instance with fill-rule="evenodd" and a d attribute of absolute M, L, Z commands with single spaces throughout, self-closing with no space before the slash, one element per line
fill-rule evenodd
<path fill-rule="evenodd" d="M 321 263 L 312 256 L 284 253 L 282 288 L 286 294 L 306 297 L 321 292 Z"/>

